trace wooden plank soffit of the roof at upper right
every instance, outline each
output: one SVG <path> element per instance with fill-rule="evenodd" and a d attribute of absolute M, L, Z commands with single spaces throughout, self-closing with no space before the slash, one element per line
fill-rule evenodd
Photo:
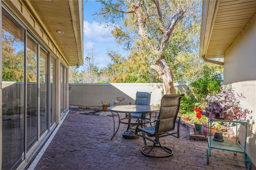
<path fill-rule="evenodd" d="M 200 56 L 220 58 L 256 15 L 256 0 L 203 0 Z"/>

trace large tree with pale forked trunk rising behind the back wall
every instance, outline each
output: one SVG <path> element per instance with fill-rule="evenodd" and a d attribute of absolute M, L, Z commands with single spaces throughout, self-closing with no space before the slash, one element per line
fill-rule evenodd
<path fill-rule="evenodd" d="M 194 10 L 198 10 L 195 1 L 179 0 L 118 0 L 104 1 L 100 12 L 96 13 L 108 22 L 123 19 L 123 27 L 116 26 L 112 31 L 118 43 L 127 49 L 140 51 L 150 62 L 150 67 L 157 71 L 165 86 L 166 94 L 175 94 L 174 75 L 168 60 L 174 61 L 175 53 L 169 53 L 174 42 L 174 28 L 184 19 L 181 26 L 192 26 Z M 184 35 L 186 36 L 186 35 Z"/>

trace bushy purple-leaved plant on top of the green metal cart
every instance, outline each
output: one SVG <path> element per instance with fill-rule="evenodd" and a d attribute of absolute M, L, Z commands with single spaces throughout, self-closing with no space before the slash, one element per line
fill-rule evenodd
<path fill-rule="evenodd" d="M 247 114 L 252 111 L 248 109 L 243 109 L 240 100 L 246 97 L 238 95 L 232 90 L 231 87 L 224 89 L 220 87 L 220 93 L 214 95 L 207 95 L 206 100 L 208 101 L 208 106 L 202 112 L 210 120 L 215 119 L 226 119 L 232 121 L 233 119 L 239 119 L 244 121 Z"/>

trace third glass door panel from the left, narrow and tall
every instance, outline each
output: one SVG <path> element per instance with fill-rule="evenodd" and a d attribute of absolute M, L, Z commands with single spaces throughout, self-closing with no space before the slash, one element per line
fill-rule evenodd
<path fill-rule="evenodd" d="M 47 58 L 48 53 L 40 48 L 40 137 L 47 130 Z"/>

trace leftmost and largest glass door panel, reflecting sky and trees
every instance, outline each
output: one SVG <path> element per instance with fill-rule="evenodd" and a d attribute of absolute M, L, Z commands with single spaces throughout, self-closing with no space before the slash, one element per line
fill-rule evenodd
<path fill-rule="evenodd" d="M 2 8 L 2 167 L 24 159 L 24 33 Z"/>

